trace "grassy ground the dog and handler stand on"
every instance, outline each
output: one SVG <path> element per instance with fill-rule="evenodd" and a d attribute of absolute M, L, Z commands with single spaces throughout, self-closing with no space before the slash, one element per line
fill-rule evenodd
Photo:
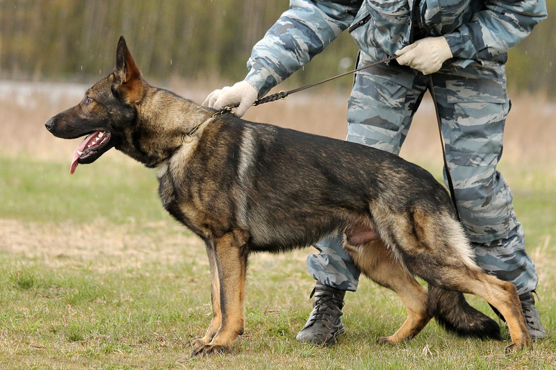
<path fill-rule="evenodd" d="M 406 314 L 395 294 L 366 279 L 346 296 L 338 345 L 300 344 L 313 287 L 305 250 L 254 255 L 245 335 L 229 355 L 190 359 L 189 340 L 211 320 L 208 263 L 202 244 L 162 210 L 154 171 L 108 159 L 70 176 L 67 164 L 2 157 L 0 368 L 553 369 L 554 176 L 502 170 L 541 276 L 549 337 L 534 351 L 503 355 L 508 341 L 461 339 L 436 323 L 411 342 L 379 346 Z"/>

